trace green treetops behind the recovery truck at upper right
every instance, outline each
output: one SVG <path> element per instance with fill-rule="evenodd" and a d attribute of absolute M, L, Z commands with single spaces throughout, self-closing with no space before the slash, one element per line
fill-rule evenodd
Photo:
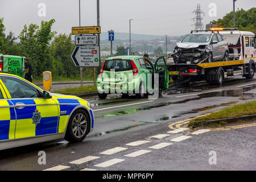
<path fill-rule="evenodd" d="M 222 19 L 214 20 L 213 24 L 217 24 L 218 27 L 233 27 L 233 11 L 226 14 Z M 256 8 L 236 11 L 236 27 L 238 30 L 251 31 L 256 34 Z"/>

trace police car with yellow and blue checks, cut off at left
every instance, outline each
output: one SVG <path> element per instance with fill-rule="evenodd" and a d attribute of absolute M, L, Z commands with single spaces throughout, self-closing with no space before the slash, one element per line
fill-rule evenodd
<path fill-rule="evenodd" d="M 0 72 L 0 150 L 62 138 L 79 142 L 93 125 L 89 102 Z"/>

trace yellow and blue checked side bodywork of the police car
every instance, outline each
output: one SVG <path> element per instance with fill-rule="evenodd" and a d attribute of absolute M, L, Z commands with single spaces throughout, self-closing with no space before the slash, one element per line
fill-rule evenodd
<path fill-rule="evenodd" d="M 14 105 L 19 102 L 26 107 L 14 109 Z M 85 100 L 68 99 L 68 97 L 53 97 L 49 100 L 41 98 L 2 100 L 0 101 L 0 140 L 64 133 L 69 115 L 80 105 L 89 110 L 93 128 L 93 112 Z"/>

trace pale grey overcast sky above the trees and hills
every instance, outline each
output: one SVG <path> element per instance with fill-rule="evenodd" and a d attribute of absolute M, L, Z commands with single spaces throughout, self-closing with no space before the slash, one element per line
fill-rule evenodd
<path fill-rule="evenodd" d="M 39 16 L 42 9 L 39 3 L 46 5 L 46 16 Z M 233 0 L 100 0 L 101 32 L 114 30 L 147 35 L 184 35 L 193 30 L 195 17 L 192 11 L 200 3 L 204 11 L 203 24 L 222 18 L 233 11 Z M 216 5 L 216 16 L 213 6 Z M 238 0 L 236 10 L 248 10 L 256 7 L 255 0 Z M 40 11 L 42 13 L 43 11 Z M 209 12 L 213 16 L 209 16 Z M 4 18 L 6 34 L 13 31 L 18 36 L 24 24 L 55 19 L 53 30 L 58 34 L 69 34 L 71 28 L 79 26 L 79 0 L 0 0 L 0 18 Z M 81 26 L 97 26 L 97 1 L 81 0 Z"/>

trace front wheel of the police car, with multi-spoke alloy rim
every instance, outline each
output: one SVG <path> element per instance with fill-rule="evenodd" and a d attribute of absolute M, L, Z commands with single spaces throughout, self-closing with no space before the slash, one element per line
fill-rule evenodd
<path fill-rule="evenodd" d="M 65 140 L 69 142 L 80 142 L 89 133 L 90 120 L 88 114 L 82 110 L 76 110 L 68 122 Z"/>

